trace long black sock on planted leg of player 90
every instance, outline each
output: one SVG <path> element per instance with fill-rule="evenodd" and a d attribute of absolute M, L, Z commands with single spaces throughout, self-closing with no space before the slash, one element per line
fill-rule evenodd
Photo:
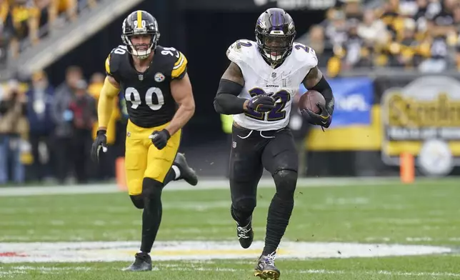
<path fill-rule="evenodd" d="M 142 189 L 144 211 L 142 212 L 142 241 L 141 251 L 150 253 L 156 234 L 161 224 L 161 183 L 154 179 L 144 178 Z"/>

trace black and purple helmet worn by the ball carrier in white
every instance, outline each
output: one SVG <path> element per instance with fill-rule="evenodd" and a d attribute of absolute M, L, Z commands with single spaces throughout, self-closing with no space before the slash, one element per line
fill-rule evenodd
<path fill-rule="evenodd" d="M 283 63 L 291 54 L 295 37 L 294 20 L 283 9 L 267 9 L 257 19 L 257 46 L 262 57 L 272 66 Z"/>

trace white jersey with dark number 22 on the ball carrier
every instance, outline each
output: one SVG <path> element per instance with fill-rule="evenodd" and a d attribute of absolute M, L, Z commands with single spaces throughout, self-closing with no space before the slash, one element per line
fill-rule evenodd
<path fill-rule="evenodd" d="M 240 98 L 271 94 L 275 108 L 268 113 L 248 111 L 234 115 L 234 121 L 246 129 L 268 131 L 283 129 L 289 124 L 291 104 L 310 69 L 318 64 L 313 49 L 294 43 L 283 64 L 273 69 L 262 58 L 254 41 L 238 40 L 227 50 L 227 57 L 239 66 L 244 78 Z"/>

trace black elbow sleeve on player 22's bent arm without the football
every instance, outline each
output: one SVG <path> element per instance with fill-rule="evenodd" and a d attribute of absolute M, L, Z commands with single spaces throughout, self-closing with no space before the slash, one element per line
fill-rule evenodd
<path fill-rule="evenodd" d="M 219 114 L 235 115 L 244 112 L 244 101 L 239 98 L 243 86 L 234 81 L 221 79 L 216 97 L 214 97 L 214 109 Z"/>

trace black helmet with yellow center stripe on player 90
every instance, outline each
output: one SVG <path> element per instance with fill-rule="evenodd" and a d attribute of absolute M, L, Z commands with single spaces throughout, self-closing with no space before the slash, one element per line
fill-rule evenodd
<path fill-rule="evenodd" d="M 131 36 L 136 35 L 151 35 L 149 44 L 136 44 L 131 41 Z M 152 49 L 156 48 L 156 44 L 160 39 L 160 32 L 158 29 L 158 22 L 146 11 L 134 11 L 129 14 L 123 21 L 121 40 L 126 45 L 129 54 L 139 57 L 139 59 L 146 59 L 151 54 Z M 146 49 L 139 47 L 144 46 Z"/>

